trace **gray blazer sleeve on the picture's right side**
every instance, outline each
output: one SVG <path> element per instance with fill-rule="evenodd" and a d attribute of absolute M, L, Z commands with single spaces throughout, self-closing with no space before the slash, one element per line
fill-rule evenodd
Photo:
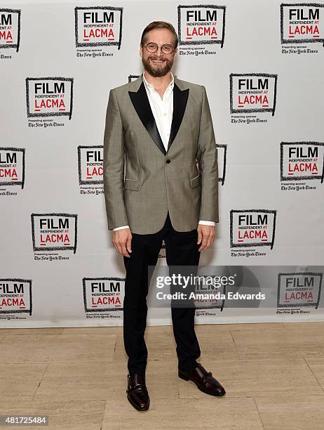
<path fill-rule="evenodd" d="M 219 222 L 218 213 L 218 164 L 215 133 L 208 98 L 203 88 L 201 121 L 198 137 L 197 161 L 201 176 L 201 211 L 199 219 Z"/>

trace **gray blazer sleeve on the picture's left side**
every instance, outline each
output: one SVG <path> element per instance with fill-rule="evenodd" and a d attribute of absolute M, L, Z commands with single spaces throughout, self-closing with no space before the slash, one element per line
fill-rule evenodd
<path fill-rule="evenodd" d="M 123 124 L 114 90 L 110 90 L 104 128 L 104 199 L 109 230 L 128 225 L 123 198 Z"/>

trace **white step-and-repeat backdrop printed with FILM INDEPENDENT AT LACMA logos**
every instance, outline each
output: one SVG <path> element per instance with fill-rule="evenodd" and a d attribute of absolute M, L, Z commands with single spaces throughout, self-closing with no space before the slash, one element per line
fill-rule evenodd
<path fill-rule="evenodd" d="M 196 301 L 196 323 L 324 320 L 324 3 L 30 0 L 0 7 L 0 326 L 122 325 L 104 119 L 154 20 L 177 30 L 173 73 L 205 86 L 217 140 L 220 223 L 201 267 L 235 294 L 210 285 L 222 294 Z M 147 323 L 168 325 L 155 294 Z"/>

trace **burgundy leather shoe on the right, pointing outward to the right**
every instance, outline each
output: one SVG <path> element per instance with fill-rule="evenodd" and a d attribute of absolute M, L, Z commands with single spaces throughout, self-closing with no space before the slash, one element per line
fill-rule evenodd
<path fill-rule="evenodd" d="M 211 394 L 211 396 L 224 396 L 226 393 L 220 382 L 212 376 L 212 372 L 207 372 L 200 363 L 193 370 L 179 369 L 178 375 L 185 381 L 190 379 L 203 393 Z"/>

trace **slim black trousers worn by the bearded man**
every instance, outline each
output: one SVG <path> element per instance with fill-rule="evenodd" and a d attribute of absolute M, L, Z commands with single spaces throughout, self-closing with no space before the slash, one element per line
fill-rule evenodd
<path fill-rule="evenodd" d="M 201 252 L 197 244 L 198 232 L 176 231 L 168 214 L 163 228 L 157 233 L 140 235 L 132 233 L 132 252 L 123 256 L 126 268 L 125 298 L 123 301 L 123 340 L 128 355 L 130 373 L 145 372 L 147 346 L 144 332 L 147 324 L 147 294 L 151 274 L 148 266 L 156 266 L 162 240 L 166 243 L 166 262 L 170 266 L 198 267 Z M 171 272 L 170 271 L 170 275 Z M 179 272 L 177 272 L 179 273 Z M 190 271 L 190 273 L 195 274 Z M 172 289 L 172 285 L 170 285 Z M 174 290 L 175 291 L 175 290 Z M 172 291 L 171 291 L 172 292 Z M 201 355 L 194 330 L 194 306 L 171 306 L 173 334 L 177 344 L 178 368 L 189 370 L 196 367 L 196 358 Z"/>

